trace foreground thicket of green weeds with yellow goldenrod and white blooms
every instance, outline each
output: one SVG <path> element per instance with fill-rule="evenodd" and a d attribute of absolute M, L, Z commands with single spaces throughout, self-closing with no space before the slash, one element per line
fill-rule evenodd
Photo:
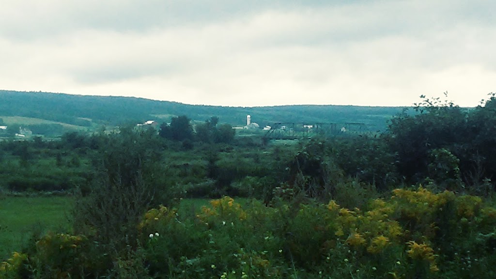
<path fill-rule="evenodd" d="M 475 196 L 395 189 L 348 209 L 334 200 L 212 200 L 160 206 L 137 243 L 102 254 L 94 236 L 49 234 L 0 265 L 0 278 L 494 278 L 496 209 Z M 98 231 L 95 231 L 95 235 Z"/>

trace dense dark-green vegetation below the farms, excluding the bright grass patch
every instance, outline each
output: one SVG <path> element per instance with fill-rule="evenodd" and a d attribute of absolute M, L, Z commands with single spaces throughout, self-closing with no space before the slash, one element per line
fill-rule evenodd
<path fill-rule="evenodd" d="M 415 110 L 373 136 L 268 142 L 182 115 L 1 141 L 2 195 L 77 202 L 0 278 L 494 278 L 496 97 Z"/>

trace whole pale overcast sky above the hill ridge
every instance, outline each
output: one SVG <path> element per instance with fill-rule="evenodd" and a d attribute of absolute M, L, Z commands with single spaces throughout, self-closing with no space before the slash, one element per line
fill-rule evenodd
<path fill-rule="evenodd" d="M 496 92 L 494 0 L 0 4 L 0 89 L 226 106 Z"/>

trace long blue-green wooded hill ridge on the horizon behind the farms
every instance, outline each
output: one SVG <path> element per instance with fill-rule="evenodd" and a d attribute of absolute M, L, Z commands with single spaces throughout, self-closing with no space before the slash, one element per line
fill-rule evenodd
<path fill-rule="evenodd" d="M 141 123 L 147 120 L 169 122 L 186 115 L 194 121 L 217 116 L 220 123 L 243 126 L 246 116 L 261 127 L 275 122 L 364 123 L 370 130 L 384 130 L 387 121 L 403 107 L 362 107 L 341 105 L 290 105 L 271 107 L 222 107 L 187 105 L 135 97 L 82 96 L 62 93 L 0 90 L 0 118 L 11 123 L 20 117 L 46 120 L 31 125 L 95 128 Z M 10 117 L 10 118 L 9 118 Z M 17 117 L 17 118 L 12 118 Z M 33 131 L 34 132 L 34 131 Z"/>

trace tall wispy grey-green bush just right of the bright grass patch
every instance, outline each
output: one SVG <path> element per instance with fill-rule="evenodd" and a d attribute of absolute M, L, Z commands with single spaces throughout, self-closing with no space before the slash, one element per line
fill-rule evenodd
<path fill-rule="evenodd" d="M 95 235 L 103 252 L 113 253 L 137 245 L 136 225 L 161 185 L 161 150 L 153 131 L 123 127 L 120 133 L 100 137 L 106 139 L 94 160 L 97 177 L 89 195 L 77 199 L 74 229 Z"/>

